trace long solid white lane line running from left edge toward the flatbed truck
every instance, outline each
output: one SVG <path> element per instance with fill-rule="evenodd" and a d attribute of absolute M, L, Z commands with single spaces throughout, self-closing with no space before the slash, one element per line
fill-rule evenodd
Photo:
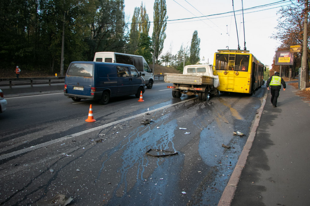
<path fill-rule="evenodd" d="M 196 98 L 192 98 L 192 99 L 187 99 L 187 100 L 184 100 L 184 101 L 181 101 L 181 102 L 177 102 L 177 103 L 174 103 L 174 104 L 166 105 L 166 106 L 163 106 L 163 107 L 159 107 L 157 109 L 148 111 L 148 113 L 155 112 L 155 111 L 162 110 L 162 109 L 166 109 L 168 107 L 172 107 L 172 106 L 175 106 L 175 105 L 178 105 L 178 104 L 182 104 L 182 103 L 191 101 L 193 99 L 197 99 L 197 97 Z M 48 142 L 44 142 L 44 143 L 41 143 L 41 144 L 38 144 L 38 145 L 33 145 L 31 147 L 24 148 L 24 149 L 15 151 L 15 152 L 7 153 L 7 154 L 2 154 L 2 155 L 0 155 L 0 160 L 6 159 L 6 158 L 10 158 L 10 157 L 13 157 L 15 155 L 19 155 L 19 154 L 22 154 L 22 153 L 25 153 L 25 152 L 29 152 L 29 151 L 32 151 L 34 149 L 38 149 L 38 148 L 41 148 L 41 147 L 46 147 L 47 145 L 51 145 L 51 144 L 54 144 L 54 143 L 57 143 L 57 142 L 60 142 L 60 141 L 65 141 L 67 139 L 71 139 L 73 137 L 77 137 L 77 136 L 80 136 L 80 135 L 83 135 L 83 134 L 86 134 L 86 133 L 89 133 L 89 132 L 93 132 L 95 130 L 101 130 L 103 128 L 112 126 L 114 124 L 118 124 L 118 123 L 121 123 L 121 122 L 124 122 L 124 121 L 127 121 L 127 120 L 134 119 L 134 118 L 139 117 L 139 116 L 143 116 L 143 115 L 145 115 L 145 113 L 146 112 L 143 112 L 141 114 L 130 116 L 130 117 L 127 117 L 127 118 L 122 119 L 122 120 L 117 120 L 115 122 L 111 122 L 111 123 L 104 124 L 104 125 L 101 125 L 101 126 L 98 126 L 98 127 L 94 127 L 94 128 L 88 129 L 88 130 L 84 130 L 82 132 L 77 132 L 77 133 L 74 133 L 74 134 L 71 134 L 71 135 L 66 135 L 64 137 L 60 137 L 58 139 L 51 140 L 51 141 L 48 141 Z"/>

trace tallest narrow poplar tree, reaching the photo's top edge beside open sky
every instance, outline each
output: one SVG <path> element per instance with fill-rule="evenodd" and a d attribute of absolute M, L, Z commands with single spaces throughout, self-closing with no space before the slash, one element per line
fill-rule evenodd
<path fill-rule="evenodd" d="M 166 39 L 166 27 L 167 27 L 167 8 L 166 0 L 155 0 L 154 2 L 154 26 L 153 26 L 153 62 L 158 63 L 158 57 L 162 53 L 164 47 L 164 41 Z"/>

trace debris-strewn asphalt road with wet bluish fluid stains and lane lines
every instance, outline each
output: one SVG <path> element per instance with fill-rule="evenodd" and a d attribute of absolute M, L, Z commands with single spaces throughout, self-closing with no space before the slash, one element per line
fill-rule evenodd
<path fill-rule="evenodd" d="M 144 102 L 134 95 L 107 105 L 62 93 L 8 98 L 0 115 L 0 204 L 36 205 L 60 193 L 73 197 L 70 205 L 216 205 L 265 87 L 203 102 L 172 98 L 167 85 L 147 89 Z M 93 123 L 85 122 L 90 104 Z M 178 154 L 153 157 L 148 149 Z"/>

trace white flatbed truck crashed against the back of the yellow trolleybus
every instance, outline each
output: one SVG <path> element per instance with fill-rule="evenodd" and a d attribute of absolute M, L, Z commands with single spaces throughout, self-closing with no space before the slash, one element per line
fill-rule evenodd
<path fill-rule="evenodd" d="M 218 96 L 219 76 L 212 65 L 187 65 L 183 74 L 165 74 L 164 81 L 173 83 L 167 88 L 172 89 L 172 97 L 180 98 L 182 94 L 198 95 L 199 100 L 206 101 L 208 94 Z"/>

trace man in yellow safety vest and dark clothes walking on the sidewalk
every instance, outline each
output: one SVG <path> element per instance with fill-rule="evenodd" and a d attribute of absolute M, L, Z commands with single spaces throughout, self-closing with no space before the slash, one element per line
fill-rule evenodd
<path fill-rule="evenodd" d="M 285 88 L 286 88 L 284 80 L 281 77 L 279 77 L 279 75 L 280 75 L 279 72 L 275 72 L 274 76 L 270 77 L 266 83 L 268 90 L 269 90 L 269 85 L 270 85 L 271 103 L 273 107 L 277 107 L 277 101 L 278 101 L 279 92 L 281 89 L 281 84 L 283 85 L 283 91 L 285 91 Z"/>

